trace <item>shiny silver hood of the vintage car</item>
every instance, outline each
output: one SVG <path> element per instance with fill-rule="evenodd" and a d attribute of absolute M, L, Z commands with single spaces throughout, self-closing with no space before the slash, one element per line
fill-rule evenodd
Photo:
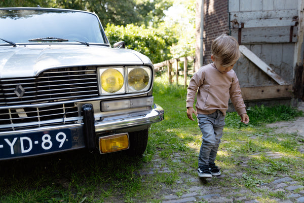
<path fill-rule="evenodd" d="M 34 77 L 47 69 L 83 65 L 151 64 L 130 49 L 84 45 L 26 45 L 0 47 L 0 78 Z"/>

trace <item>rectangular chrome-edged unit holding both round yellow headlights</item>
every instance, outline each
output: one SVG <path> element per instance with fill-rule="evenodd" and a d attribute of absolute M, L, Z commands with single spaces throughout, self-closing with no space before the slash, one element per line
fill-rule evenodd
<path fill-rule="evenodd" d="M 147 91 L 152 82 L 152 70 L 146 66 L 99 67 L 100 95 Z"/>

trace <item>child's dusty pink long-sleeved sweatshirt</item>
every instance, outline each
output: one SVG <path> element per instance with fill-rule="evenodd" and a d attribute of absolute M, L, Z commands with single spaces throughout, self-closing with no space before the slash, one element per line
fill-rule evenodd
<path fill-rule="evenodd" d="M 239 80 L 233 70 L 220 73 L 214 63 L 202 66 L 187 88 L 187 107 L 193 107 L 196 93 L 198 114 L 212 114 L 219 110 L 226 115 L 229 98 L 239 115 L 246 113 Z"/>

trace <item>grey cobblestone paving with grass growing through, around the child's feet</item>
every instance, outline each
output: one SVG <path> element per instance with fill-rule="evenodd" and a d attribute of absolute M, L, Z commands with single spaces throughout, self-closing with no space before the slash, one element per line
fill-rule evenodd
<path fill-rule="evenodd" d="M 299 103 L 298 109 L 304 111 L 304 103 Z M 277 127 L 278 130 L 283 132 L 292 133 L 296 132 L 299 136 L 304 137 L 304 118 L 299 118 L 298 121 L 283 122 L 282 124 L 274 124 L 269 127 Z M 302 119 L 302 120 L 301 120 Z M 302 122 L 303 121 L 303 122 Z M 303 133 L 303 134 L 301 134 Z M 301 153 L 304 153 L 303 149 L 298 149 Z M 256 154 L 252 154 L 256 155 Z M 278 152 L 266 152 L 265 156 L 278 159 L 284 155 Z M 248 157 L 250 158 L 250 157 Z M 176 154 L 172 157 L 173 161 L 184 164 L 182 161 L 182 155 Z M 153 168 L 148 168 L 145 171 L 141 171 L 142 176 L 148 176 L 154 173 L 174 173 L 164 166 L 166 163 L 162 163 L 162 159 L 158 155 L 153 159 Z M 247 167 L 246 161 L 243 161 L 241 167 Z M 189 170 L 194 170 L 193 168 Z M 227 174 L 224 168 L 221 170 L 222 175 L 219 177 L 213 177 L 208 179 L 200 179 L 196 173 L 181 174 L 180 179 L 176 182 L 176 188 L 162 185 L 163 191 L 160 200 L 162 203 L 185 203 L 185 202 L 244 202 L 244 203 L 263 203 L 263 202 L 278 202 L 278 203 L 292 203 L 292 202 L 304 202 L 304 185 L 294 180 L 291 176 L 272 176 L 273 180 L 270 183 L 262 183 L 257 186 L 257 190 L 251 190 L 250 188 L 238 187 L 236 185 L 221 186 L 215 183 L 217 179 L 232 180 L 235 178 L 242 178 L 242 172 L 236 172 L 233 174 Z M 190 175 L 193 174 L 193 175 Z M 304 176 L 304 171 L 296 172 L 298 176 Z M 230 177 L 229 177 L 230 176 Z M 257 191 L 257 192 L 253 192 Z M 258 191 L 268 191 L 278 195 L 269 196 L 265 200 L 261 200 L 261 193 Z M 280 196 L 281 198 L 277 197 Z M 276 196 L 276 197 L 275 197 Z M 259 199 L 259 200 L 258 200 Z"/>

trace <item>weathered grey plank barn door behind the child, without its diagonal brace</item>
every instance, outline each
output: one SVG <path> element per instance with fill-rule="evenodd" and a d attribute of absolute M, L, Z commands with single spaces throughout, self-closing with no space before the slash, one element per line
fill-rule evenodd
<path fill-rule="evenodd" d="M 231 35 L 293 83 L 298 0 L 229 0 Z M 241 87 L 278 85 L 246 57 L 234 67 Z"/>

